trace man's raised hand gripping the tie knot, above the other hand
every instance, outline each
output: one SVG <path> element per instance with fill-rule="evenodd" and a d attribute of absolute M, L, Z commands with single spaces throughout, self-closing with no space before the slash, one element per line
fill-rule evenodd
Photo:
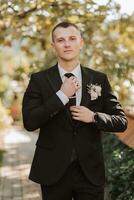
<path fill-rule="evenodd" d="M 64 92 L 67 97 L 71 97 L 76 93 L 76 91 L 80 88 L 79 81 L 75 76 L 71 76 L 70 78 L 66 78 L 64 83 L 61 85 L 60 90 Z"/>

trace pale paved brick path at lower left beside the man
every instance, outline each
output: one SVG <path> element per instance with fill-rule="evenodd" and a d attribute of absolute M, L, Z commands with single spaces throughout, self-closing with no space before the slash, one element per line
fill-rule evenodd
<path fill-rule="evenodd" d="M 41 200 L 39 185 L 28 180 L 36 139 L 35 133 L 27 133 L 20 128 L 5 130 L 0 200 Z"/>

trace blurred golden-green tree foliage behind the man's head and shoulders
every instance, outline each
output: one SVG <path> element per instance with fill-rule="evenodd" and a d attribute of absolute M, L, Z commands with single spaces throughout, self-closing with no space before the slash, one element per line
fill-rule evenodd
<path fill-rule="evenodd" d="M 56 23 L 68 20 L 80 27 L 85 40 L 82 63 L 107 72 L 120 99 L 125 99 L 134 82 L 134 16 L 121 16 L 119 10 L 112 0 L 106 5 L 95 0 L 1 0 L 1 51 L 14 49 L 14 62 L 10 58 L 8 65 L 0 64 L 2 75 L 8 73 L 23 86 L 28 74 L 54 64 L 50 33 Z M 109 19 L 111 15 L 116 20 Z"/>

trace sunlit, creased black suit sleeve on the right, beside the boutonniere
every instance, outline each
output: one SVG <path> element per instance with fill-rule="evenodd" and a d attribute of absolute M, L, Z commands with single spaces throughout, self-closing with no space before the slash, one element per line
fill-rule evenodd
<path fill-rule="evenodd" d="M 104 80 L 103 96 L 104 112 L 97 112 L 95 115 L 97 128 L 104 132 L 125 131 L 127 128 L 127 118 L 116 96 L 112 92 L 107 76 L 105 76 Z"/>

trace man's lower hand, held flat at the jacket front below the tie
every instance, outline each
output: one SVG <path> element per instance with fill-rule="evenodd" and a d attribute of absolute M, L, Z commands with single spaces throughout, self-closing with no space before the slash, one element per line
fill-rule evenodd
<path fill-rule="evenodd" d="M 72 118 L 85 123 L 94 122 L 94 112 L 85 106 L 71 106 Z"/>

